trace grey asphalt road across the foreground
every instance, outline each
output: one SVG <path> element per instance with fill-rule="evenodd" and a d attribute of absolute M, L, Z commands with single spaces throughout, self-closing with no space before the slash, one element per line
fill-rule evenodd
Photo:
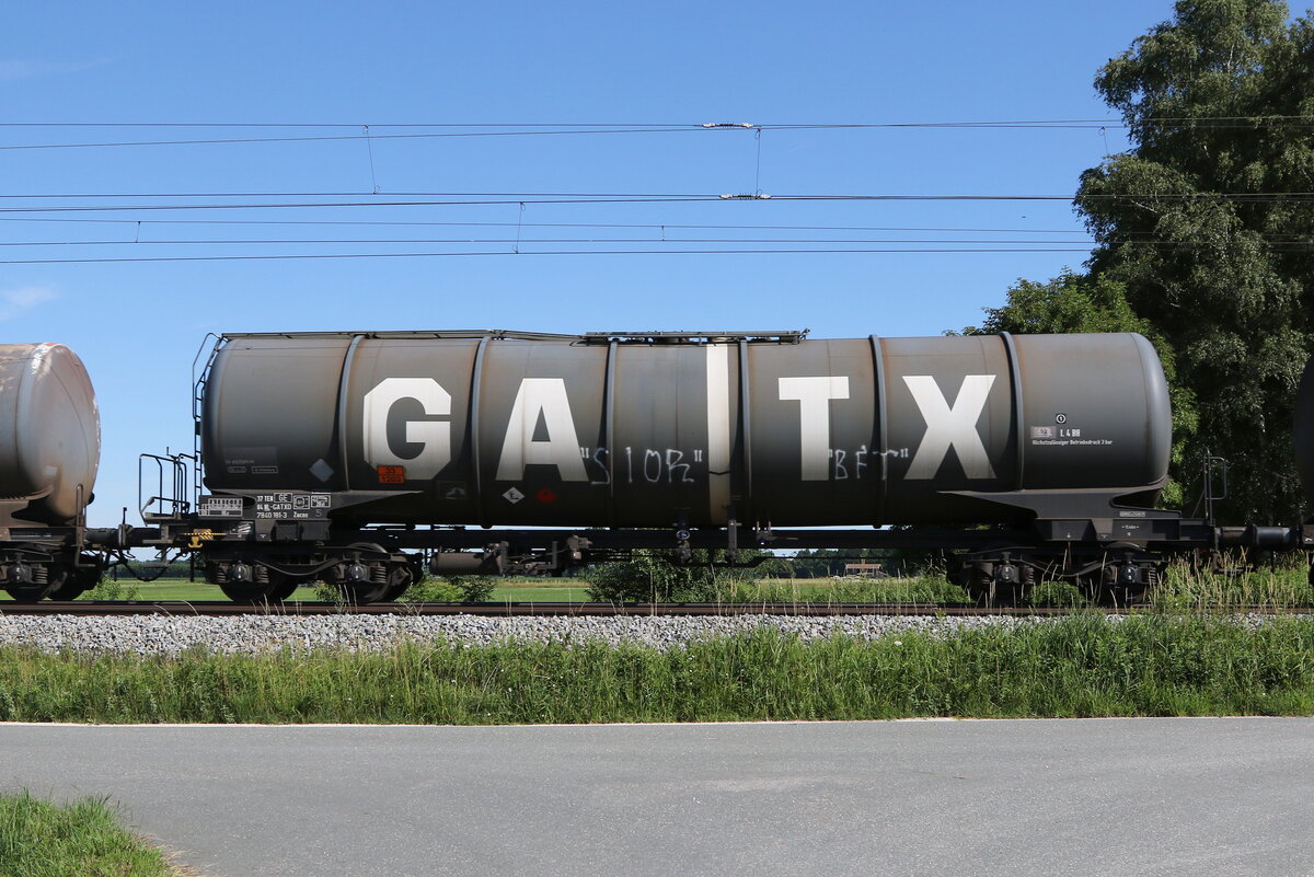
<path fill-rule="evenodd" d="M 213 877 L 1314 874 L 1314 719 L 0 725 Z"/>

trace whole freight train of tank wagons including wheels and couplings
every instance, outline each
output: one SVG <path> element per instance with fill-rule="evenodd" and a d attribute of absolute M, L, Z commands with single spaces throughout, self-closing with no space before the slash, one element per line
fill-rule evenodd
<path fill-rule="evenodd" d="M 200 361 L 194 453 L 145 454 L 143 525 L 97 529 L 85 370 L 0 345 L 0 587 L 71 599 L 134 547 L 251 603 L 636 549 L 904 547 L 946 551 L 982 603 L 1042 579 L 1131 603 L 1173 554 L 1314 547 L 1155 508 L 1168 387 L 1134 333 L 231 333 Z"/>

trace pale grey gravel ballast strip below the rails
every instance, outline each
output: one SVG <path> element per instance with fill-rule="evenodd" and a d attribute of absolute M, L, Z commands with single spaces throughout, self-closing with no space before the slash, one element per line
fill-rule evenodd
<path fill-rule="evenodd" d="M 980 628 L 1014 629 L 1050 618 L 982 616 L 728 616 L 618 618 L 487 618 L 477 616 L 0 616 L 0 647 L 28 646 L 46 652 L 97 651 L 173 655 L 187 649 L 222 654 L 284 649 L 385 651 L 399 642 L 460 642 L 484 646 L 506 641 L 583 642 L 678 647 L 696 639 L 759 629 L 819 639 L 834 634 L 874 639 L 905 633 L 951 635 Z"/>

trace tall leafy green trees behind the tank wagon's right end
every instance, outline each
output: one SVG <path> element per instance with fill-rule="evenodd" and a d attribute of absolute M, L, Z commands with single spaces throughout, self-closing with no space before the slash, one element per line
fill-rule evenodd
<path fill-rule="evenodd" d="M 1227 519 L 1301 520 L 1290 431 L 1314 332 L 1301 194 L 1314 192 L 1314 22 L 1275 0 L 1180 0 L 1095 87 L 1134 147 L 1081 175 L 1088 273 L 1024 281 L 987 326 L 1144 326 L 1190 406 L 1177 478 L 1222 453 Z"/>

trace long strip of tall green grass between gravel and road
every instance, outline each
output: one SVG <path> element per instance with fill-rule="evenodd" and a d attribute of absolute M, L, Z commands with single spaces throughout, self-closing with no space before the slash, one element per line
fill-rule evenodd
<path fill-rule="evenodd" d="M 142 658 L 0 650 L 0 719 L 537 723 L 1314 714 L 1314 618 L 1147 613 L 670 650 L 413 645 Z"/>

